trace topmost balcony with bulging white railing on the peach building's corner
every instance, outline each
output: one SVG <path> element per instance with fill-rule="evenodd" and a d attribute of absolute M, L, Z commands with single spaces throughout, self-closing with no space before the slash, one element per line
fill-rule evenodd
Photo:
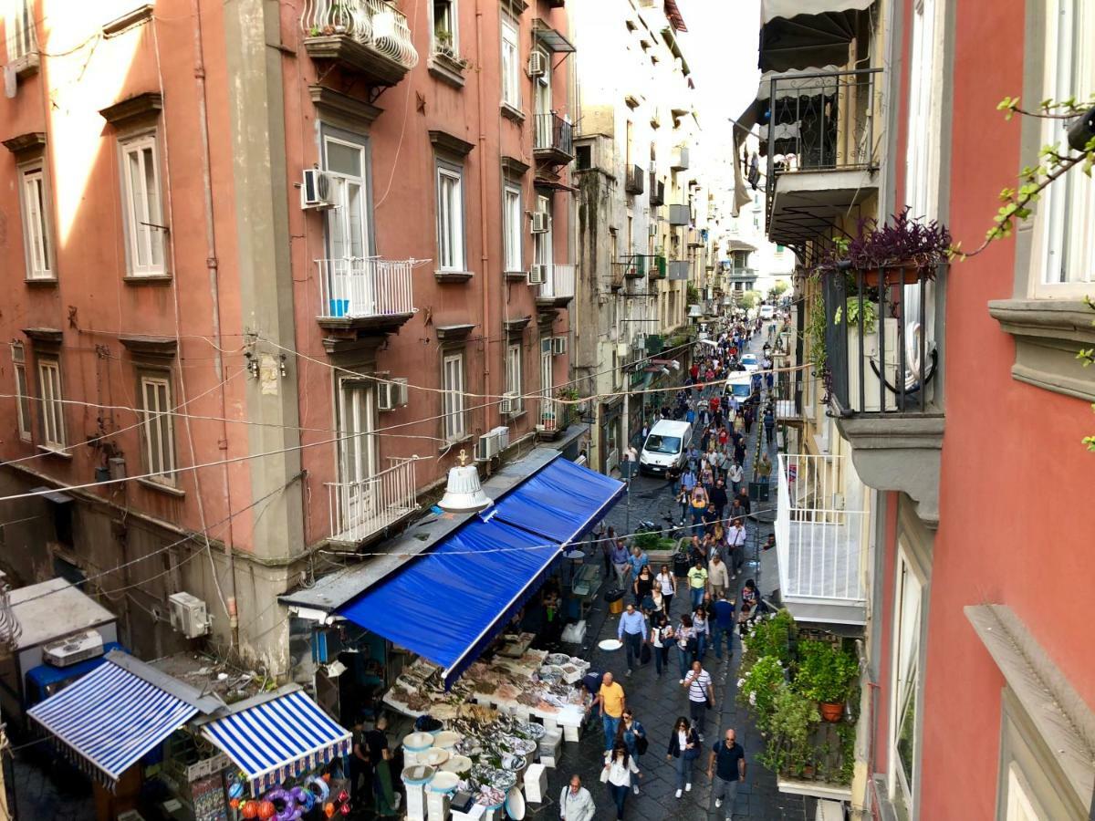
<path fill-rule="evenodd" d="M 300 28 L 313 60 L 331 60 L 369 85 L 395 85 L 418 65 L 406 16 L 384 0 L 306 0 Z"/>

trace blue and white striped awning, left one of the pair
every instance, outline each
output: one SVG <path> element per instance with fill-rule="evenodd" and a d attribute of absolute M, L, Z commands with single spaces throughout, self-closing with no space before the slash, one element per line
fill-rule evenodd
<path fill-rule="evenodd" d="M 27 715 L 84 772 L 113 788 L 122 774 L 198 708 L 110 659 Z"/>

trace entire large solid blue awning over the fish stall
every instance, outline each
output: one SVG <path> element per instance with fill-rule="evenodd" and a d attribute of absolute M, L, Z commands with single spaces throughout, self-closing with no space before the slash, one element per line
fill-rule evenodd
<path fill-rule="evenodd" d="M 556 459 L 338 613 L 439 664 L 450 685 L 535 593 L 563 546 L 588 532 L 623 487 Z"/>

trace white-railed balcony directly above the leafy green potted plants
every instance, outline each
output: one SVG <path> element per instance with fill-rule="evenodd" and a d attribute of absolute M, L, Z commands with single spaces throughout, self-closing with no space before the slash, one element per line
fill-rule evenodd
<path fill-rule="evenodd" d="M 776 560 L 784 606 L 800 622 L 866 622 L 867 514 L 845 456 L 780 454 Z M 854 493 L 846 493 L 848 488 Z M 848 504 L 848 502 L 853 504 Z"/>

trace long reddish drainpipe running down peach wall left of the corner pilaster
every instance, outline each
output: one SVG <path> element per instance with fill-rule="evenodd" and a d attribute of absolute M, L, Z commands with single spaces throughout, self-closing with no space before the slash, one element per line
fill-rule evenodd
<path fill-rule="evenodd" d="M 198 86 L 198 119 L 201 127 L 201 183 L 205 205 L 205 228 L 206 228 L 206 268 L 209 270 L 209 298 L 212 302 L 212 336 L 214 347 L 217 350 L 214 367 L 220 385 L 220 436 L 221 449 L 228 450 L 228 398 L 224 391 L 224 351 L 221 339 L 220 322 L 220 274 L 217 267 L 217 230 L 214 224 L 212 213 L 212 183 L 209 159 L 209 112 L 206 106 L 206 82 L 205 82 L 205 49 L 201 45 L 201 9 L 199 0 L 191 0 L 191 9 L 194 14 L 194 79 Z M 228 537 L 224 540 L 224 558 L 228 562 L 229 594 L 228 594 L 228 623 L 232 629 L 232 646 L 240 649 L 240 616 L 235 606 L 235 555 L 232 520 L 232 492 L 228 478 L 228 465 L 221 465 L 221 489 L 228 502 Z"/>

